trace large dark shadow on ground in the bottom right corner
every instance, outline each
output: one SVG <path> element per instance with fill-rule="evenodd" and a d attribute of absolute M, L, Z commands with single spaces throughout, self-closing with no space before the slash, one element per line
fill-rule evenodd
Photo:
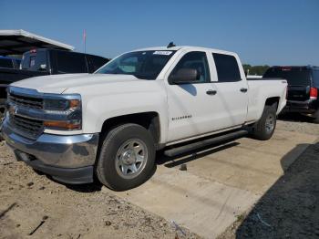
<path fill-rule="evenodd" d="M 238 216 L 236 238 L 319 238 L 319 143 L 297 145 L 281 164 L 283 176 L 247 216 Z"/>

